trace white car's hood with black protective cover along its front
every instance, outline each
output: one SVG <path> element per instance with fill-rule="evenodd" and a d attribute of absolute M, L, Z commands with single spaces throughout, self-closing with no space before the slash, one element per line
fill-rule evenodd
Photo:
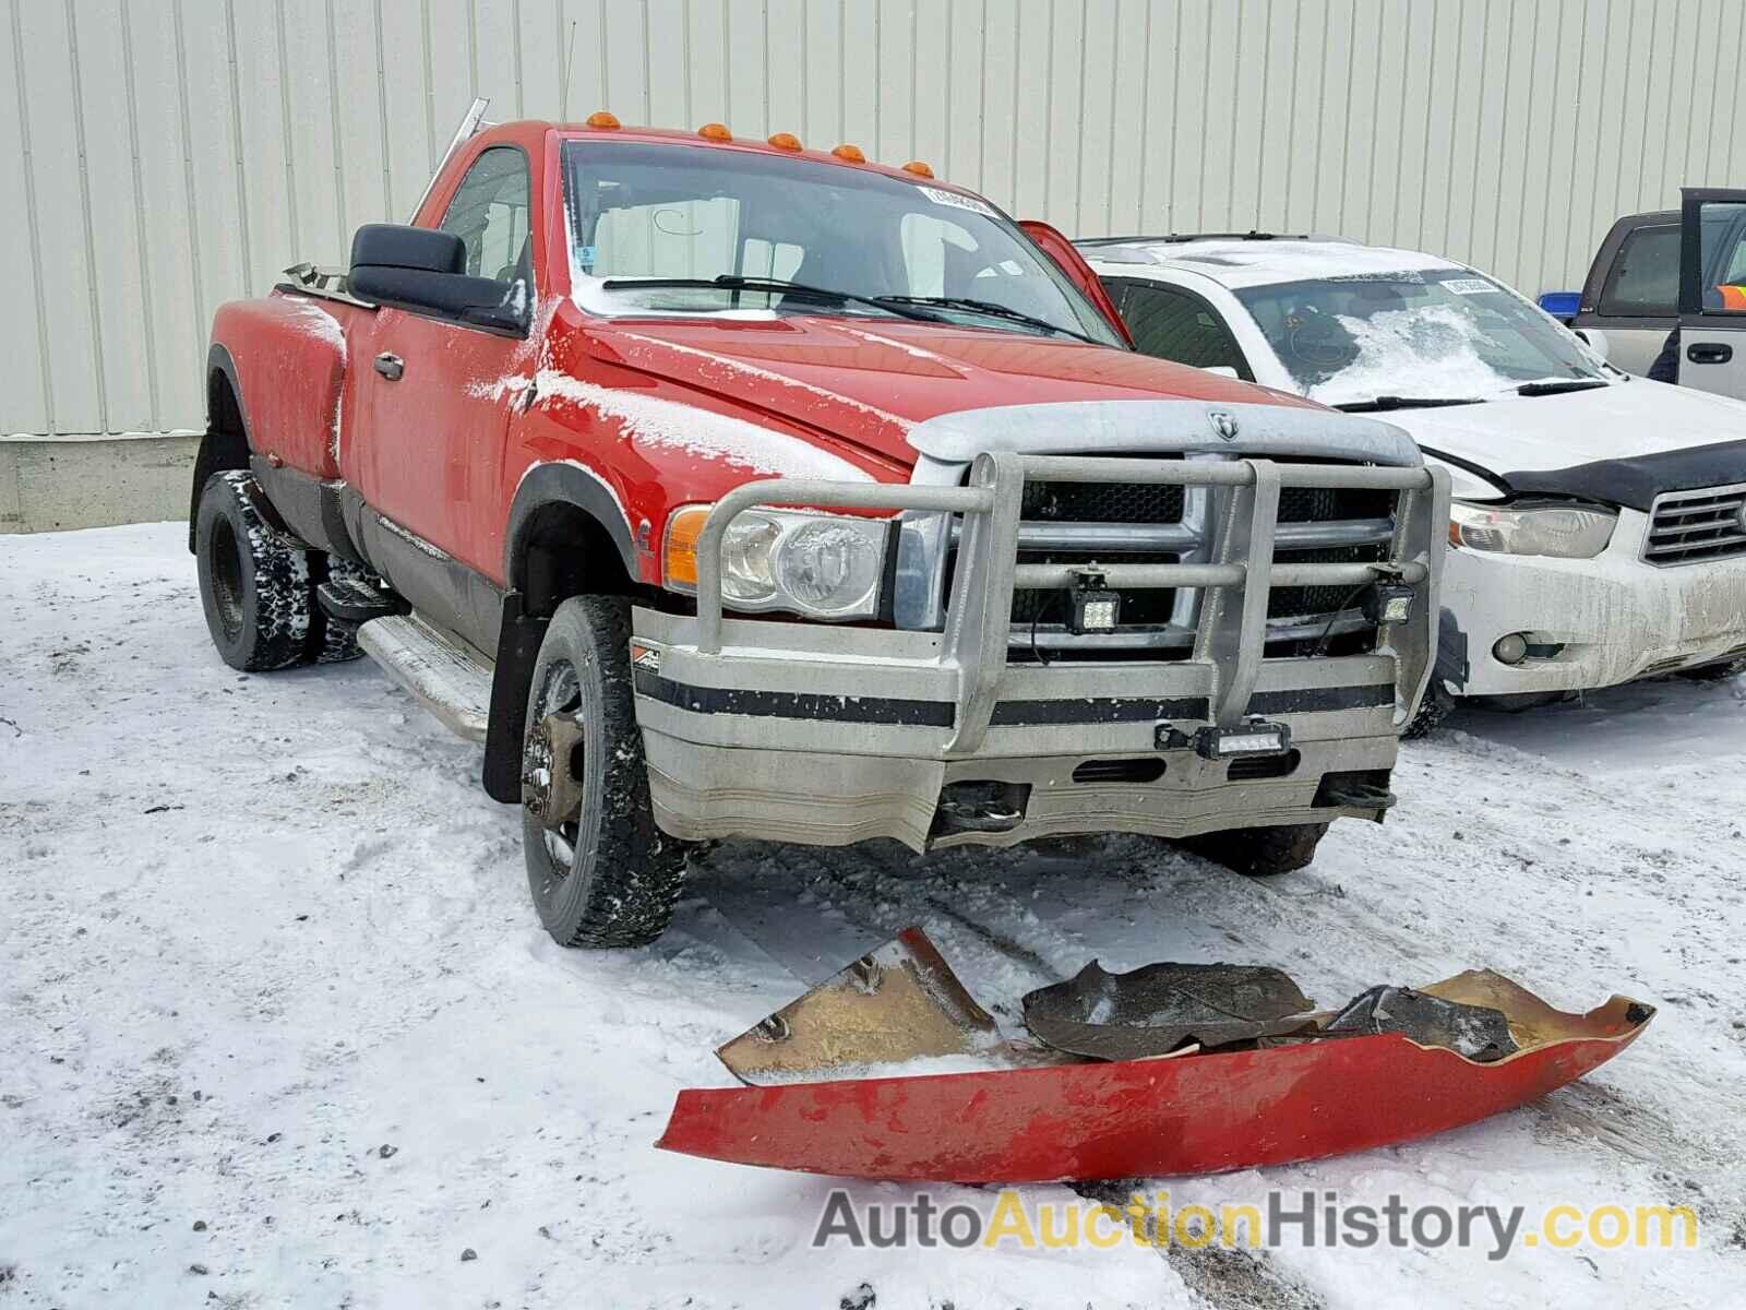
<path fill-rule="evenodd" d="M 1746 482 L 1746 403 L 1641 377 L 1552 396 L 1402 409 L 1388 421 L 1426 456 L 1447 456 L 1510 491 L 1648 508 L 1660 491 Z"/>

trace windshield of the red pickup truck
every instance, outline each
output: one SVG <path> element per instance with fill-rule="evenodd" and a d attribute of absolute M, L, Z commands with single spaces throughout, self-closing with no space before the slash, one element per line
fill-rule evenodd
<path fill-rule="evenodd" d="M 573 293 L 590 313 L 903 316 L 1123 344 L 992 204 L 920 180 L 707 145 L 567 141 L 564 187 Z"/>

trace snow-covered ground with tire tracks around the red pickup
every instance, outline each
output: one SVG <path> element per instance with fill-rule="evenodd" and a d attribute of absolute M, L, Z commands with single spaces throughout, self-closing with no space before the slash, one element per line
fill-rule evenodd
<path fill-rule="evenodd" d="M 534 922 L 473 748 L 374 665 L 218 662 L 183 533 L 0 538 L 0 1305 L 1428 1310 L 1746 1287 L 1741 681 L 1456 716 L 1406 749 L 1386 826 L 1337 824 L 1269 882 L 1128 838 L 925 861 L 730 844 L 656 947 L 581 954 Z M 1004 1018 L 1093 955 L 1273 962 L 1323 1003 L 1468 966 L 1564 1008 L 1653 1001 L 1634 1048 L 1519 1113 L 1158 1186 L 1674 1202 L 1702 1245 L 817 1252 L 831 1181 L 653 1149 L 677 1088 L 730 1081 L 719 1041 L 910 922 Z"/>

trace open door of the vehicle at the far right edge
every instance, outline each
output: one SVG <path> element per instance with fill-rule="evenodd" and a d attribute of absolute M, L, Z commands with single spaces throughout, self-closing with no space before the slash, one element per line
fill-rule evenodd
<path fill-rule="evenodd" d="M 1680 384 L 1746 398 L 1746 190 L 1680 206 Z"/>

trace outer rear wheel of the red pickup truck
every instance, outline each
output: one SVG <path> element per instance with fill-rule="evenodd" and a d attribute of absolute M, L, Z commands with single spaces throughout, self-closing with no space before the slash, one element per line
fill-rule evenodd
<path fill-rule="evenodd" d="M 206 631 L 223 662 L 244 672 L 309 655 L 309 550 L 267 521 L 265 503 L 253 475 L 232 468 L 206 479 L 194 519 Z"/>

